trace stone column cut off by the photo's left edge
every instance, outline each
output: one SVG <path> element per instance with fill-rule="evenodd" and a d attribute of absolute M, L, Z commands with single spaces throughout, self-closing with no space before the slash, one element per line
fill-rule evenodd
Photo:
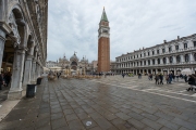
<path fill-rule="evenodd" d="M 2 65 L 4 42 L 5 42 L 5 32 L 0 29 L 0 69 L 1 69 L 1 65 Z M 0 73 L 1 73 L 1 70 L 0 70 Z"/>

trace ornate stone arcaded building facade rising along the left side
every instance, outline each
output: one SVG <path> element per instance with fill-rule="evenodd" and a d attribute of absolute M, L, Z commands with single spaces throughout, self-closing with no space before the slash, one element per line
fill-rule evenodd
<path fill-rule="evenodd" d="M 12 75 L 9 100 L 21 99 L 42 73 L 47 21 L 48 0 L 0 0 L 0 68 Z"/>

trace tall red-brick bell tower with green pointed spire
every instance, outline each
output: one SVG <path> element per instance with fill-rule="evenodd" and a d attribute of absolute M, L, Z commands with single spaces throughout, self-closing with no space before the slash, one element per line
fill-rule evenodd
<path fill-rule="evenodd" d="M 98 73 L 110 72 L 110 27 L 105 8 L 98 29 Z"/>

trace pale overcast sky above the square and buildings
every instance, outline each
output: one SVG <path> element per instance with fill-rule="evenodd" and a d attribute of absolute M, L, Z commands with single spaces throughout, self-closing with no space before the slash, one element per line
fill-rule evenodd
<path fill-rule="evenodd" d="M 110 22 L 110 58 L 196 34 L 196 0 L 49 0 L 48 61 L 74 51 L 97 60 L 103 6 Z"/>

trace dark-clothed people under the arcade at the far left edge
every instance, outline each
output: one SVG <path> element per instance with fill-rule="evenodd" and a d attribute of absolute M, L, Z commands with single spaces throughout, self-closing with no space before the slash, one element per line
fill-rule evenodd
<path fill-rule="evenodd" d="M 1 73 L 0 74 L 0 90 L 2 90 L 2 87 L 8 87 L 11 81 L 11 73 Z"/>

